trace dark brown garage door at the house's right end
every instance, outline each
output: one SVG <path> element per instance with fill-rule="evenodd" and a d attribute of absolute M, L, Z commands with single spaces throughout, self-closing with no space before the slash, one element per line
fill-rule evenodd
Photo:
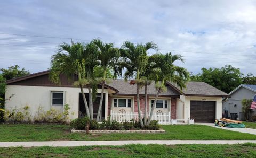
<path fill-rule="evenodd" d="M 214 122 L 215 101 L 190 101 L 190 118 L 195 122 Z"/>

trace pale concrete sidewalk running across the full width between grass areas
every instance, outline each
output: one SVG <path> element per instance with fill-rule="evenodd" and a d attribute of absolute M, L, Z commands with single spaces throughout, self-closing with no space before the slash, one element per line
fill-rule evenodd
<path fill-rule="evenodd" d="M 127 144 L 243 144 L 256 143 L 256 140 L 138 140 L 138 141 L 45 141 L 45 142 L 0 142 L 0 147 L 38 147 L 38 146 L 91 146 Z"/>

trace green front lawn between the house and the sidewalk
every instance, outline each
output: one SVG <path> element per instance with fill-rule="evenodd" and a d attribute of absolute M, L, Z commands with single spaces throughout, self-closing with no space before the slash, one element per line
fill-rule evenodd
<path fill-rule="evenodd" d="M 238 133 L 204 125 L 163 125 L 162 134 L 102 134 L 70 133 L 69 125 L 0 125 L 0 142 L 9 141 L 64 141 L 64 140 L 255 140 L 256 135 Z"/>

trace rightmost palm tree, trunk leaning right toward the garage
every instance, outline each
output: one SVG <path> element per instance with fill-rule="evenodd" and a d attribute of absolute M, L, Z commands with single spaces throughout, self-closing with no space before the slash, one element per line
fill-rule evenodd
<path fill-rule="evenodd" d="M 180 87 L 181 91 L 186 87 L 185 83 L 188 81 L 189 73 L 186 68 L 175 66 L 173 63 L 177 60 L 183 62 L 183 57 L 181 55 L 172 55 L 171 52 L 165 55 L 155 54 L 150 57 L 149 60 L 154 61 L 156 68 L 156 88 L 158 89 L 153 103 L 153 107 L 150 111 L 150 116 L 147 121 L 147 126 L 150 124 L 150 121 L 153 116 L 154 109 L 156 107 L 156 102 L 159 94 L 162 91 L 166 91 L 166 82 L 170 81 L 173 84 Z M 161 82 L 159 82 L 159 80 Z"/>

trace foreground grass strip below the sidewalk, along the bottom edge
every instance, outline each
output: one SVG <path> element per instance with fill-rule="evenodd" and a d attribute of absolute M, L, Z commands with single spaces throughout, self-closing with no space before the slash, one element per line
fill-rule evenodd
<path fill-rule="evenodd" d="M 256 157 L 256 144 L 10 147 L 0 157 Z"/>

